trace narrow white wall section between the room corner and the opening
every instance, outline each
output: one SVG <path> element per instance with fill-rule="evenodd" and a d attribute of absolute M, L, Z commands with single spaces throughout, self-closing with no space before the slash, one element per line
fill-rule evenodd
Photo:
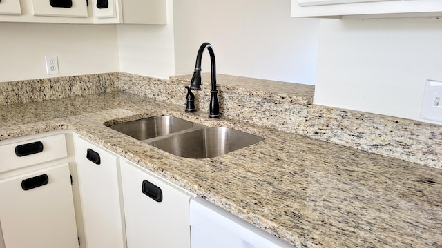
<path fill-rule="evenodd" d="M 121 72 L 169 79 L 175 73 L 173 0 L 167 25 L 117 25 Z"/>

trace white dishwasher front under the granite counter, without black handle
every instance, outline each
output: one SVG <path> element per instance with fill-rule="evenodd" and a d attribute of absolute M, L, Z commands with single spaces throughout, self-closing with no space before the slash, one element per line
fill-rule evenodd
<path fill-rule="evenodd" d="M 228 211 L 195 197 L 190 203 L 192 248 L 293 248 Z"/>

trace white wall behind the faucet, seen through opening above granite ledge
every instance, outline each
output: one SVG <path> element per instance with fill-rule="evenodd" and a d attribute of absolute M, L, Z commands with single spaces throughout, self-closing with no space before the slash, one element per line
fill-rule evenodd
<path fill-rule="evenodd" d="M 193 72 L 198 48 L 209 42 L 220 74 L 315 82 L 320 20 L 291 18 L 290 0 L 177 0 L 174 15 L 177 75 Z"/>

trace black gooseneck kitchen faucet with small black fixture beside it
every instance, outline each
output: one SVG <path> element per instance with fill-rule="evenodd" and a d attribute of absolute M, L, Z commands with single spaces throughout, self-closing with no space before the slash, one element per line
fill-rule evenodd
<path fill-rule="evenodd" d="M 187 107 L 186 112 L 193 112 L 195 111 L 195 107 L 191 106 L 193 102 L 189 102 L 191 100 L 191 94 L 190 90 L 201 90 L 201 59 L 202 59 L 202 52 L 207 48 L 209 50 L 210 54 L 210 63 L 211 63 L 211 76 L 212 76 L 212 87 L 211 87 L 211 99 L 210 99 L 210 105 L 209 105 L 209 118 L 220 118 L 220 104 L 218 103 L 218 90 L 216 89 L 216 65 L 215 65 L 215 53 L 213 52 L 212 45 L 210 43 L 202 43 L 200 46 L 200 50 L 198 50 L 198 54 L 196 56 L 196 65 L 195 65 L 195 71 L 193 72 L 192 80 L 191 80 L 191 86 L 190 89 L 188 88 L 188 95 L 187 95 Z M 190 92 L 190 94 L 189 94 Z M 194 97 L 194 96 L 193 96 Z M 194 100 L 194 99 L 193 99 Z"/>

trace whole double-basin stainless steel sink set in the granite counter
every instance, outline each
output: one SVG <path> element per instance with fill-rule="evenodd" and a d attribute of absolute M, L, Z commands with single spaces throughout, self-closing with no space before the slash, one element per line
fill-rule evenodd
<path fill-rule="evenodd" d="M 153 116 L 108 127 L 184 158 L 214 158 L 264 140 L 229 127 L 206 127 L 175 116 Z"/>

